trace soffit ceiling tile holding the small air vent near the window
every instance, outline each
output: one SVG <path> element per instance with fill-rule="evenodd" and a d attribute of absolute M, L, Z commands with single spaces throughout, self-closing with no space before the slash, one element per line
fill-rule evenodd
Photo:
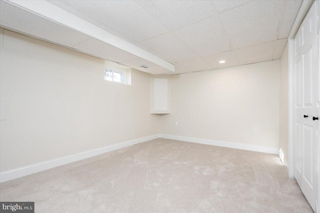
<path fill-rule="evenodd" d="M 123 61 L 123 62 L 121 62 L 121 64 L 135 68 L 135 69 L 143 71 L 143 72 L 152 73 L 152 74 L 162 74 L 162 73 L 169 72 L 168 69 L 163 68 L 162 66 L 159 66 L 159 65 L 152 63 L 148 60 L 145 60 L 143 58 L 137 58 L 137 59 L 133 59 L 133 60 L 129 60 L 129 61 Z M 140 65 L 142 65 L 142 64 L 149 66 L 149 68 L 140 67 Z"/>

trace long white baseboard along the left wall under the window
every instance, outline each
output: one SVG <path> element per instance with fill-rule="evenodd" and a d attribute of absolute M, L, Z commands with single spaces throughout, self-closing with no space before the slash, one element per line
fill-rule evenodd
<path fill-rule="evenodd" d="M 102 148 L 96 148 L 96 149 L 92 149 L 89 151 L 83 151 L 83 152 L 80 152 L 77 154 L 72 154 L 72 155 L 68 155 L 65 157 L 47 160 L 44 162 L 40 162 L 40 163 L 36 163 L 36 164 L 32 164 L 32 165 L 28 165 L 28 166 L 24 166 L 24 167 L 20 167 L 20 168 L 8 170 L 8 171 L 3 171 L 0 173 L 0 182 L 4 182 L 4 181 L 8 181 L 8 180 L 15 179 L 18 177 L 26 176 L 26 175 L 33 174 L 33 173 L 36 173 L 39 171 L 43 171 L 43 170 L 46 170 L 49 168 L 64 165 L 64 164 L 71 163 L 71 162 L 74 162 L 77 160 L 81 160 L 81 159 L 85 159 L 85 158 L 92 157 L 95 155 L 103 154 L 105 152 L 113 151 L 113 150 L 116 150 L 119 148 L 124 148 L 124 147 L 130 146 L 130 145 L 134 145 L 137 143 L 145 142 L 145 141 L 156 139 L 156 138 L 159 138 L 158 134 L 133 139 L 133 140 L 129 140 L 126 142 L 105 146 Z"/>

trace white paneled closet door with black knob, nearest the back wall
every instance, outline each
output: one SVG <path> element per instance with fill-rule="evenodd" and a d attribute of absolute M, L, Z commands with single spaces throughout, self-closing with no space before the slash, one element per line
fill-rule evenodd
<path fill-rule="evenodd" d="M 294 38 L 294 176 L 316 209 L 319 82 L 315 4 Z"/>

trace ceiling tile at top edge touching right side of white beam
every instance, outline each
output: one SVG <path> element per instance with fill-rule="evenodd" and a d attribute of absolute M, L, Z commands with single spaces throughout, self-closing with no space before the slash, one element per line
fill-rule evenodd
<path fill-rule="evenodd" d="M 67 0 L 62 8 L 98 25 L 139 42 L 168 31 L 133 0 Z M 105 28 L 104 26 L 107 26 Z M 112 33 L 112 32 L 110 32 Z"/>

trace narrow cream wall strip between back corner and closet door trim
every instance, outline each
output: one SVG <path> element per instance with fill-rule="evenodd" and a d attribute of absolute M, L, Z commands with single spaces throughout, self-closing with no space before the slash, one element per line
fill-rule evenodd
<path fill-rule="evenodd" d="M 289 68 L 288 68 L 288 43 L 286 43 L 280 58 L 280 99 L 279 99 L 279 148 L 283 153 L 283 163 L 287 168 L 289 146 Z"/>

